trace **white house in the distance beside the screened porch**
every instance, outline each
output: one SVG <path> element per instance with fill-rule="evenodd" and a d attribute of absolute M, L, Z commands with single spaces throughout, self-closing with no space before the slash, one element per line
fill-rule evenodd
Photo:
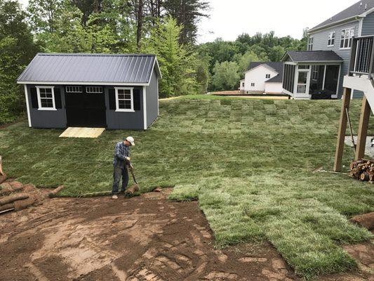
<path fill-rule="evenodd" d="M 282 93 L 283 63 L 251 63 L 240 81 L 241 93 Z"/>

